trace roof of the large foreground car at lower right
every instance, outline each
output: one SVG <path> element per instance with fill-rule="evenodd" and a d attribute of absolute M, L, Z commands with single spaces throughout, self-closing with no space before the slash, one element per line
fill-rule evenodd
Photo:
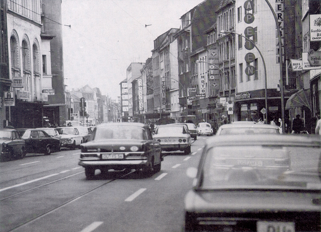
<path fill-rule="evenodd" d="M 268 145 L 268 146 L 313 146 L 320 147 L 321 140 L 318 135 L 284 135 L 284 134 L 253 134 L 220 135 L 206 141 L 207 146 L 240 146 L 240 145 Z"/>

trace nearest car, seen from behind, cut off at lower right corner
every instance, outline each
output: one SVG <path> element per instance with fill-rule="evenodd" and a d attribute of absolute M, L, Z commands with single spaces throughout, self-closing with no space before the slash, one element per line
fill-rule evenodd
<path fill-rule="evenodd" d="M 215 136 L 193 183 L 185 231 L 321 229 L 320 136 Z"/>

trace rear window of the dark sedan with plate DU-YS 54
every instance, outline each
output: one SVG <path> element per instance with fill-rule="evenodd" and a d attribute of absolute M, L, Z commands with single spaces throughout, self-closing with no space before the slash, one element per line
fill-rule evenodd
<path fill-rule="evenodd" d="M 100 127 L 96 128 L 94 140 L 107 139 L 129 139 L 129 140 L 146 140 L 146 133 L 141 127 Z"/>

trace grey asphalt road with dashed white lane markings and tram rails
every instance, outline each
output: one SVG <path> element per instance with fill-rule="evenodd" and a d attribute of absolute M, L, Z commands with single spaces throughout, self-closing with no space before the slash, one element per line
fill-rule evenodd
<path fill-rule="evenodd" d="M 193 179 L 202 146 L 191 153 L 165 152 L 161 171 L 109 172 L 87 180 L 78 166 L 80 150 L 50 156 L 27 154 L 22 160 L 0 163 L 0 231 L 182 231 L 184 196 Z"/>

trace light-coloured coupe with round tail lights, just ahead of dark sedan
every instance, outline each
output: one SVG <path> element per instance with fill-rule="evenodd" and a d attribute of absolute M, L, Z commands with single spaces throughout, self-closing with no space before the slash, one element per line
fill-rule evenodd
<path fill-rule="evenodd" d="M 191 152 L 191 135 L 187 125 L 167 124 L 159 125 L 153 134 L 154 140 L 160 143 L 164 151 L 184 151 L 185 155 Z"/>

